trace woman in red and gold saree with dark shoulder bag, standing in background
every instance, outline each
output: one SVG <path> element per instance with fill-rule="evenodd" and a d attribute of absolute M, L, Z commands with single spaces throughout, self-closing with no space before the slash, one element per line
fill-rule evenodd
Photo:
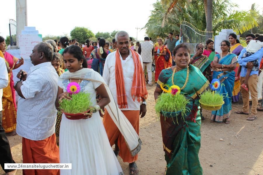
<path fill-rule="evenodd" d="M 166 53 L 169 53 L 168 57 L 166 56 Z M 172 50 L 171 50 L 172 52 Z M 172 66 L 172 56 L 167 49 L 166 46 L 162 45 L 162 39 L 158 38 L 158 46 L 155 47 L 154 50 L 154 58 L 155 58 L 155 82 L 158 81 L 158 77 L 163 69 L 166 69 L 168 67 Z"/>

